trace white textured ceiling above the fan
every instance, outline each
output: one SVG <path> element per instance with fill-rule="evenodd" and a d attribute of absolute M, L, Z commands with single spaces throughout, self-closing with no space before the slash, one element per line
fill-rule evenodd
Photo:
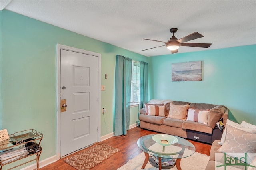
<path fill-rule="evenodd" d="M 256 44 L 255 0 L 12 0 L 1 4 L 0 9 L 146 56 L 170 54 L 165 46 L 141 51 L 164 45 L 143 38 L 168 41 L 170 28 L 178 28 L 178 39 L 199 32 L 204 37 L 189 42 L 212 43 L 208 49 Z M 202 50 L 207 49 L 182 46 L 179 53 Z"/>

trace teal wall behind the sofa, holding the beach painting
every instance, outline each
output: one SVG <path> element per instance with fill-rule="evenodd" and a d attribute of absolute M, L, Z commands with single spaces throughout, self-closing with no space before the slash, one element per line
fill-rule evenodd
<path fill-rule="evenodd" d="M 181 47 L 186 48 L 186 47 Z M 256 45 L 150 57 L 151 99 L 225 105 L 256 125 Z M 202 61 L 202 81 L 172 82 L 172 63 Z"/>

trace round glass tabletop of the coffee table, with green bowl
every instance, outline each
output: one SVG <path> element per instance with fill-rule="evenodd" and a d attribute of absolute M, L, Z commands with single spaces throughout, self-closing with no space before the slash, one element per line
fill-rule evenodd
<path fill-rule="evenodd" d="M 154 137 L 153 137 L 154 136 Z M 186 158 L 196 151 L 195 146 L 184 138 L 162 134 L 149 134 L 138 139 L 137 145 L 144 152 L 161 158 Z M 153 140 L 154 139 L 154 140 Z M 166 140 L 173 140 L 166 145 Z"/>

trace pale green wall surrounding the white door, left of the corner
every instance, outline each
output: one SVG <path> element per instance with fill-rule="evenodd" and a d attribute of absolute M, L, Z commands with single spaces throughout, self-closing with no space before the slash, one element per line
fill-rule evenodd
<path fill-rule="evenodd" d="M 0 11 L 0 24 L 0 129 L 12 134 L 34 128 L 44 134 L 40 160 L 56 154 L 58 43 L 101 54 L 101 82 L 106 89 L 101 91 L 101 108 L 107 110 L 101 115 L 101 136 L 113 132 L 116 54 L 145 62 L 148 57 L 8 10 Z"/>

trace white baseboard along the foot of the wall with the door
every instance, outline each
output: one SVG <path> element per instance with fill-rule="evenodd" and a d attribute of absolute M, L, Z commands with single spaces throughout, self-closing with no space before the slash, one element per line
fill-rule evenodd
<path fill-rule="evenodd" d="M 140 125 L 140 123 L 134 123 L 133 125 L 129 126 L 129 129 L 137 127 L 139 125 Z M 103 140 L 106 140 L 108 138 L 111 138 L 111 137 L 114 136 L 114 134 L 115 134 L 115 132 L 112 132 L 110 134 L 106 134 L 105 136 L 101 136 L 100 140 L 103 141 Z M 47 166 L 49 164 L 52 164 L 52 163 L 54 163 L 56 161 L 57 161 L 57 155 L 54 155 L 54 156 L 52 156 L 50 158 L 46 158 L 44 160 L 39 161 L 39 166 L 40 166 L 40 168 L 42 168 L 42 167 Z M 35 168 L 36 168 L 36 163 L 34 163 L 34 164 L 30 165 L 30 166 L 27 166 L 25 168 L 22 168 L 21 170 L 34 170 Z"/>

